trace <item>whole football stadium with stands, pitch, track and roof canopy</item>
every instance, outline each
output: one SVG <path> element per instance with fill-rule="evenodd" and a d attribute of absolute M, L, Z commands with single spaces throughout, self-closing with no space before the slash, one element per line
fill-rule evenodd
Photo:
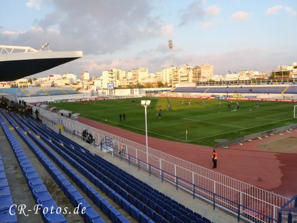
<path fill-rule="evenodd" d="M 0 81 L 82 57 L 0 48 Z M 297 79 L 0 94 L 0 222 L 296 221 Z"/>

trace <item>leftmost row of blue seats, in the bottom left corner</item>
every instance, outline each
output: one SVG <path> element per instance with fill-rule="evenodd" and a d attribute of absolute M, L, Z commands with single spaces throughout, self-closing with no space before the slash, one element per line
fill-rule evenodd
<path fill-rule="evenodd" d="M 1 120 L 0 120 L 1 121 Z M 4 166 L 2 162 L 2 157 L 0 155 L 0 220 L 6 223 L 16 223 L 16 215 L 8 215 L 9 209 L 13 205 L 7 178 L 4 171 Z M 14 208 L 12 213 L 15 212 Z"/>

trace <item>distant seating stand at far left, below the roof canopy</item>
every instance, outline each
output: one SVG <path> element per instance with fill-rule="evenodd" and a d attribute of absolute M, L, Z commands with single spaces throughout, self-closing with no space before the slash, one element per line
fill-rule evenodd
<path fill-rule="evenodd" d="M 45 87 L 45 88 L 0 88 L 0 93 L 8 93 L 16 95 L 17 97 L 35 97 L 35 96 L 47 96 L 49 95 L 65 95 L 66 94 L 78 94 L 77 91 L 70 87 Z M 27 94 L 26 94 L 27 93 Z M 47 94 L 48 93 L 48 94 Z M 28 96 L 29 95 L 29 96 Z"/>

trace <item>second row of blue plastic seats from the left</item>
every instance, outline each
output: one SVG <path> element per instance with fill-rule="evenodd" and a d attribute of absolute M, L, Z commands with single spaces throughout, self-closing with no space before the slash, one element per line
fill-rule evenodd
<path fill-rule="evenodd" d="M 13 136 L 11 131 L 9 130 L 9 127 L 3 123 L 3 120 L 1 121 L 1 127 L 6 135 L 6 138 L 15 154 L 15 157 L 19 163 L 19 166 L 22 169 L 23 175 L 25 176 L 25 179 L 28 183 L 29 189 L 36 201 L 37 204 L 41 205 L 41 215 L 45 222 L 47 223 L 65 223 L 67 222 L 64 216 L 56 212 L 50 213 L 50 212 L 44 212 L 45 208 L 48 208 L 48 210 L 52 209 L 55 211 L 57 209 L 57 205 L 52 199 L 51 195 L 49 194 L 48 189 L 44 185 L 43 181 L 39 177 L 36 169 L 33 167 L 32 163 L 30 162 L 29 158 L 27 157 L 26 153 L 24 152 L 23 148 L 20 146 L 19 142 L 16 140 L 16 138 Z M 17 129 L 17 128 L 16 128 Z M 20 129 L 18 129 L 20 130 Z M 10 216 L 10 217 L 9 217 Z M 9 212 L 6 211 L 5 216 L 1 216 L 4 219 L 9 218 L 7 221 L 13 221 L 13 218 L 15 216 L 12 216 L 9 214 Z M 12 219 L 11 219 L 12 218 Z"/>

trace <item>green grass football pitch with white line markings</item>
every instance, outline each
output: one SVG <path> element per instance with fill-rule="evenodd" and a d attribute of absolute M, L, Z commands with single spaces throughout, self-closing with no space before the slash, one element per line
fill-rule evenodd
<path fill-rule="evenodd" d="M 229 101 L 176 98 L 146 98 L 151 100 L 148 107 L 148 135 L 152 137 L 213 146 L 221 139 L 235 139 L 240 136 L 297 123 L 293 118 L 296 103 L 259 102 L 259 108 L 253 108 L 256 102 L 240 101 L 241 109 L 234 110 L 236 102 L 228 109 Z M 133 104 L 135 100 L 135 104 Z M 145 109 L 140 105 L 141 98 L 105 100 L 82 104 L 80 102 L 59 103 L 54 106 L 68 111 L 78 112 L 80 116 L 93 119 L 129 131 L 145 134 Z M 222 107 L 218 103 L 222 103 Z M 171 111 L 167 111 L 170 103 Z M 52 106 L 52 105 L 50 105 Z M 162 108 L 162 118 L 158 118 L 157 109 Z M 126 113 L 126 121 L 119 120 L 119 113 Z"/>

